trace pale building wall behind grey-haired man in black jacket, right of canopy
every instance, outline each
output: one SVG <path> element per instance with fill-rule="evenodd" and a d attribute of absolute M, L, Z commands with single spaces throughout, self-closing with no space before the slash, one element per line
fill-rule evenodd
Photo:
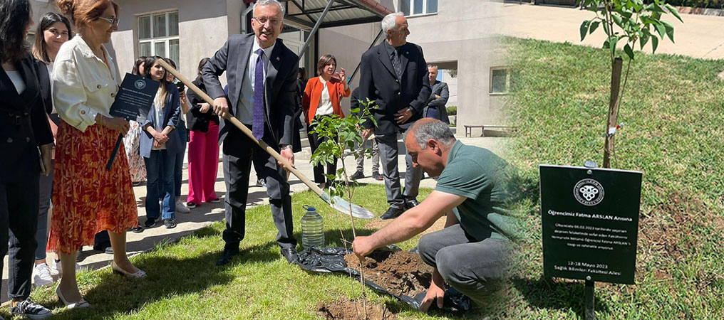
<path fill-rule="evenodd" d="M 379 2 L 397 11 L 399 1 Z M 458 69 L 455 79 L 447 70 L 442 72 L 450 85 L 448 105 L 458 105 L 460 134 L 465 132 L 465 124 L 505 124 L 505 96 L 489 94 L 490 67 L 506 65 L 504 52 L 492 38 L 497 30 L 489 23 L 498 7 L 500 4 L 481 0 L 439 0 L 437 14 L 408 17 L 408 41 L 423 48 L 425 60 L 441 69 Z M 319 53 L 333 54 L 337 65 L 351 75 L 379 28 L 379 23 L 370 23 L 320 30 Z M 357 85 L 355 79 L 352 87 Z M 343 100 L 342 106 L 348 110 L 349 99 Z"/>

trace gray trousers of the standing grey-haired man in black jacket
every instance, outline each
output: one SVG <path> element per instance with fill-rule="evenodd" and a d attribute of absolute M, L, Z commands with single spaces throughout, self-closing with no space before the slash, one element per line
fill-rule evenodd
<path fill-rule="evenodd" d="M 407 130 L 403 132 L 403 137 Z M 379 156 L 382 158 L 382 173 L 384 175 L 384 189 L 387 191 L 387 203 L 390 207 L 405 208 L 405 200 L 416 199 L 418 187 L 422 179 L 422 168 L 413 168 L 412 157 L 402 145 L 405 152 L 405 191 L 400 190 L 400 168 L 397 165 L 397 154 L 400 145 L 397 144 L 397 134 L 384 134 L 375 137 L 379 146 Z"/>

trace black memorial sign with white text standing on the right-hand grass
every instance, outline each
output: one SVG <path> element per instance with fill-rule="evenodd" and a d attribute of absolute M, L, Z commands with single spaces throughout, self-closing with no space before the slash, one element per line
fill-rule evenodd
<path fill-rule="evenodd" d="M 539 170 L 545 276 L 633 284 L 641 172 Z"/>

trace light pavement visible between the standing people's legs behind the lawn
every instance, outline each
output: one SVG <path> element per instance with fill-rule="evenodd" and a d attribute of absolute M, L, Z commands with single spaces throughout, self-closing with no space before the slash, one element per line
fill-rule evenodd
<path fill-rule="evenodd" d="M 476 137 L 476 138 L 458 138 L 465 144 L 475 145 L 478 147 L 485 147 L 493 152 L 500 153 L 503 150 L 503 144 L 510 138 L 500 137 Z M 405 170 L 405 156 L 404 156 L 404 143 L 402 139 L 398 140 L 398 144 L 401 145 L 400 151 L 402 155 L 398 156 L 400 164 L 400 170 Z M 188 150 L 188 148 L 187 148 Z M 309 164 L 311 157 L 311 150 L 309 147 L 304 147 L 301 152 L 295 153 L 295 165 L 296 167 L 306 176 L 313 180 L 312 166 Z M 188 154 L 186 156 L 188 159 Z M 356 163 L 353 158 L 349 158 L 351 161 L 346 165 L 348 172 L 354 173 L 356 170 Z M 359 180 L 362 183 L 384 183 L 384 181 L 376 181 L 371 178 L 372 163 L 370 159 L 365 160 L 364 170 L 367 178 Z M 255 207 L 261 204 L 269 204 L 269 198 L 266 196 L 266 189 L 256 186 L 256 173 L 253 173 L 253 166 L 251 168 L 251 178 L 249 179 L 249 194 L 247 205 Z M 404 175 L 402 175 L 404 176 Z M 421 187 L 434 188 L 435 181 L 427 178 L 421 181 Z M 290 189 L 292 193 L 307 191 L 308 187 L 302 183 L 294 175 L 290 176 Z M 146 211 L 144 202 L 146 200 L 146 185 L 137 186 L 133 188 L 136 196 L 136 205 L 138 206 L 138 219 L 143 225 L 146 221 Z M 143 230 L 143 233 L 127 233 L 127 251 L 129 255 L 140 254 L 143 251 L 148 251 L 156 246 L 157 243 L 163 243 L 168 241 L 175 241 L 184 235 L 189 235 L 195 230 L 201 229 L 206 225 L 210 225 L 216 221 L 224 220 L 224 199 L 226 187 L 224 186 L 224 172 L 222 163 L 219 157 L 219 173 L 216 178 L 216 194 L 222 202 L 217 204 L 204 203 L 191 209 L 188 214 L 177 213 L 176 222 L 177 227 L 173 229 L 166 229 L 163 225 L 156 224 L 156 227 L 151 229 Z M 188 194 L 188 169 L 187 163 L 184 165 L 183 172 L 183 183 L 181 186 L 181 199 L 185 201 L 186 195 Z M 423 200 L 423 199 L 419 199 Z M 381 212 L 379 214 L 382 214 Z M 300 228 L 298 223 L 295 223 L 295 228 Z M 221 251 L 219 247 L 219 251 Z M 49 261 L 52 259 L 53 254 L 49 254 Z M 92 246 L 83 247 L 83 254 L 81 254 L 83 261 L 80 261 L 80 265 L 84 268 L 98 269 L 106 267 L 111 264 L 113 255 L 101 253 L 100 251 L 93 251 Z M 8 279 L 8 258 L 4 257 L 4 268 L 2 278 L 2 290 L 0 291 L 0 302 L 4 303 L 8 300 L 7 298 L 7 279 Z M 147 270 L 148 271 L 148 270 Z M 57 277 L 56 277 L 57 278 Z"/>

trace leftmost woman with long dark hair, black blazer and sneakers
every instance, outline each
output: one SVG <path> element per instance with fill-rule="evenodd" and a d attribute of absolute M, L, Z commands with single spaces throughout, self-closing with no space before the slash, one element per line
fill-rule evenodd
<path fill-rule="evenodd" d="M 51 311 L 29 297 L 38 246 L 38 183 L 41 173 L 49 174 L 53 134 L 37 65 L 25 46 L 31 25 L 28 0 L 0 1 L 0 256 L 8 253 L 9 241 L 10 311 L 44 319 Z M 2 267 L 0 261 L 0 272 Z"/>

